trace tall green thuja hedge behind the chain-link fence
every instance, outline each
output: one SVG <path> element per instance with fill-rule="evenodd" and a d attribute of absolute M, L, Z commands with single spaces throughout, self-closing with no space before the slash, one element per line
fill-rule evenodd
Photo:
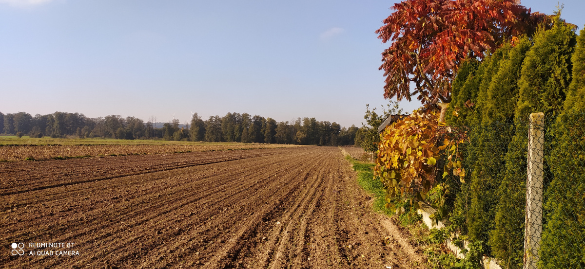
<path fill-rule="evenodd" d="M 522 268 L 527 117 L 534 112 L 549 119 L 539 267 L 585 268 L 585 116 L 575 114 L 585 113 L 584 45 L 585 31 L 577 40 L 557 18 L 552 29 L 464 62 L 453 81 L 446 120 L 472 129 L 464 153 L 470 173 L 454 214 L 466 217 L 462 232 L 504 268 Z"/>

